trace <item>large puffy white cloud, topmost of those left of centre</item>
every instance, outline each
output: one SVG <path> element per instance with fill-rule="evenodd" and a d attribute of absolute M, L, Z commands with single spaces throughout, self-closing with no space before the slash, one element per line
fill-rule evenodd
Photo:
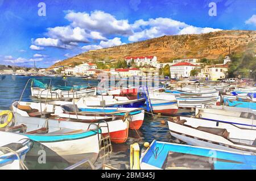
<path fill-rule="evenodd" d="M 84 28 L 88 31 L 101 32 L 103 35 L 132 35 L 133 31 L 128 20 L 117 20 L 113 15 L 104 11 L 86 12 L 69 11 L 65 16 L 73 27 Z"/>

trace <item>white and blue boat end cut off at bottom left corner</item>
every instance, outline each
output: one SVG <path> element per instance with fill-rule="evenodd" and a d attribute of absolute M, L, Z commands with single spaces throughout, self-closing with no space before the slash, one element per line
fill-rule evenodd
<path fill-rule="evenodd" d="M 22 169 L 20 162 L 30 149 L 28 137 L 3 131 L 0 131 L 0 137 L 0 170 Z"/>

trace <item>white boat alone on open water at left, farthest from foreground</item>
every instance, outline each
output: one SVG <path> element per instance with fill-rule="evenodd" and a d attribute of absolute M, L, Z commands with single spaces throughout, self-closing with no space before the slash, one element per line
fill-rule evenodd
<path fill-rule="evenodd" d="M 39 87 L 31 87 L 31 96 L 35 98 L 47 98 L 47 99 L 79 99 L 84 96 L 96 95 L 97 88 L 81 89 L 81 90 L 51 90 L 41 89 Z"/>

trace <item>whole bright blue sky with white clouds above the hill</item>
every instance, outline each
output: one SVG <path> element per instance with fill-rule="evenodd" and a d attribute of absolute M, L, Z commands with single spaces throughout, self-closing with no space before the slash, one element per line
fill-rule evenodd
<path fill-rule="evenodd" d="M 218 30 L 256 30 L 256 1 L 0 0 L 0 64 L 47 68 L 90 49 Z"/>

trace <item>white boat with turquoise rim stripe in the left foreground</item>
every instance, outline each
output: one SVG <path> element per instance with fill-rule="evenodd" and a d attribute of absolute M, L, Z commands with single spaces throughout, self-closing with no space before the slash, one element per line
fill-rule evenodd
<path fill-rule="evenodd" d="M 24 117 L 14 112 L 11 123 L 2 131 L 19 133 L 40 142 L 70 163 L 87 158 L 92 163 L 99 154 L 101 129 L 96 124 L 75 121 Z"/>

